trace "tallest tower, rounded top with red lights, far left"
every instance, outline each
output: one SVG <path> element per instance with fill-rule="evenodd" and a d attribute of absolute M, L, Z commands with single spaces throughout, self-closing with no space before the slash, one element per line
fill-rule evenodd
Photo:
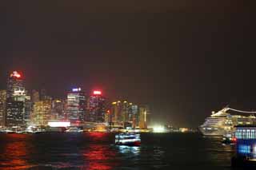
<path fill-rule="evenodd" d="M 26 90 L 21 73 L 14 71 L 7 80 L 6 126 L 23 126 Z"/>

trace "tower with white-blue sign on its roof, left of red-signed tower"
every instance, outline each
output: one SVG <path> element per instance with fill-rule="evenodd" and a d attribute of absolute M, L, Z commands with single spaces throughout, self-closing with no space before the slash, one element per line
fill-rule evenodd
<path fill-rule="evenodd" d="M 86 116 L 86 95 L 81 88 L 72 89 L 67 94 L 66 118 L 71 124 L 85 121 Z"/>

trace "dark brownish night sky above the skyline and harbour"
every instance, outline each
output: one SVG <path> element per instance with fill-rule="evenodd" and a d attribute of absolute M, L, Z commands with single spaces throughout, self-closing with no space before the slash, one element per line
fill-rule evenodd
<path fill-rule="evenodd" d="M 28 89 L 102 89 L 189 127 L 226 105 L 256 110 L 250 2 L 1 1 L 0 89 L 17 69 Z"/>

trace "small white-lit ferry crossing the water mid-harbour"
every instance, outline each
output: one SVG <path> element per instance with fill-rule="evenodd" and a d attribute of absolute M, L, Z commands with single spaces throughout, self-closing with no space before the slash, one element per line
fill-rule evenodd
<path fill-rule="evenodd" d="M 115 144 L 126 146 L 140 146 L 140 134 L 134 132 L 122 132 L 115 136 Z"/>

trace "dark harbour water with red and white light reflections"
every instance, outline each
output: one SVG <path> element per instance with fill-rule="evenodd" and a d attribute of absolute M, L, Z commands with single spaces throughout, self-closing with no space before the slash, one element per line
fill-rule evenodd
<path fill-rule="evenodd" d="M 231 169 L 234 146 L 198 133 L 142 133 L 141 147 L 113 133 L 0 134 L 0 169 Z"/>

